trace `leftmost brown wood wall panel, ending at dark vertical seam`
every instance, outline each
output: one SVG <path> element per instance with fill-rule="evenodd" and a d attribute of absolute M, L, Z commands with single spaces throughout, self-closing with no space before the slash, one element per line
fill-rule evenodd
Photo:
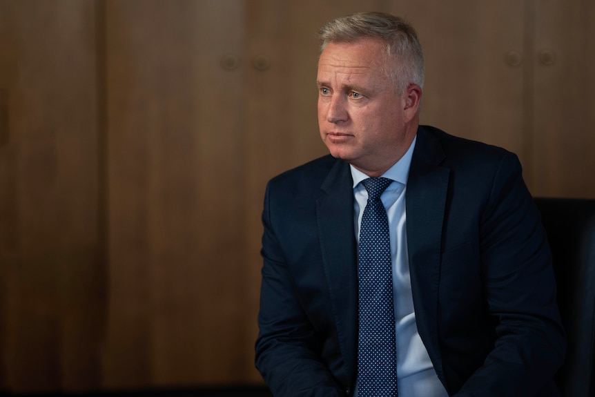
<path fill-rule="evenodd" d="M 101 381 L 94 1 L 0 2 L 0 388 Z"/>

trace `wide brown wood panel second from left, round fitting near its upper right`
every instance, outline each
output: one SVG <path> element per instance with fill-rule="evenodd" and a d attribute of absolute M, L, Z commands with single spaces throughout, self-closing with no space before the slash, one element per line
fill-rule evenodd
<path fill-rule="evenodd" d="M 108 387 L 246 379 L 243 13 L 106 4 Z"/>

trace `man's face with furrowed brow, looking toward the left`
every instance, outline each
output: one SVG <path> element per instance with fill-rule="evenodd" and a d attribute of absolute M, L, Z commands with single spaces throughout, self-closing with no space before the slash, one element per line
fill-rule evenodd
<path fill-rule="evenodd" d="M 396 93 L 384 72 L 387 59 L 380 40 L 361 39 L 329 43 L 318 61 L 322 141 L 333 157 L 369 176 L 381 175 L 395 164 L 417 130 L 418 101 L 414 99 L 411 110 L 411 88 Z"/>

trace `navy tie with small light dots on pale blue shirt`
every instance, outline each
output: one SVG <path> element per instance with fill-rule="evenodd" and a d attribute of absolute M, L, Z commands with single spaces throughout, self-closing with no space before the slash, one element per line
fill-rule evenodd
<path fill-rule="evenodd" d="M 397 396 L 389 220 L 380 201 L 391 182 L 382 177 L 362 181 L 368 191 L 368 203 L 362 215 L 358 246 L 359 397 Z"/>

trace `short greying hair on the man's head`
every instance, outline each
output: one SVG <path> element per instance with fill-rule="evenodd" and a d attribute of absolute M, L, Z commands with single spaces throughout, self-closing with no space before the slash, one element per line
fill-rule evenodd
<path fill-rule="evenodd" d="M 326 23 L 318 31 L 320 49 L 328 43 L 353 43 L 376 38 L 389 57 L 398 56 L 397 68 L 385 70 L 399 94 L 410 84 L 424 86 L 424 55 L 416 30 L 400 17 L 384 12 L 359 12 Z"/>

